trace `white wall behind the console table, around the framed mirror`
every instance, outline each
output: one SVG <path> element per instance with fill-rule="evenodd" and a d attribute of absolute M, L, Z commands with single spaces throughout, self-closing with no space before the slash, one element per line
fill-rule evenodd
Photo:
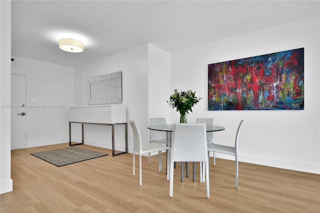
<path fill-rule="evenodd" d="M 88 106 L 88 96 L 86 92 L 87 78 L 122 71 L 122 103 L 118 104 L 127 107 L 127 123 L 129 120 L 136 121 L 140 130 L 141 139 L 146 143 L 148 139 L 147 51 L 148 45 L 144 44 L 99 60 L 91 61 L 74 69 L 74 106 Z M 79 127 L 77 127 L 77 129 L 77 131 L 72 130 L 72 134 L 80 135 Z M 110 129 L 109 126 L 87 124 L 84 128 L 84 142 L 86 144 L 111 148 Z M 115 128 L 115 149 L 119 151 L 124 150 L 123 132 L 123 126 L 119 125 Z M 132 147 L 132 130 L 128 124 L 129 152 L 132 152 Z"/>

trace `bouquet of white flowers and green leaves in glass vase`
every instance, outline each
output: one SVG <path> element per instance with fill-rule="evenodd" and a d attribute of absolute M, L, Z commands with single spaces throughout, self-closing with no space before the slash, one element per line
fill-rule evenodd
<path fill-rule="evenodd" d="M 180 112 L 180 122 L 186 122 L 186 113 L 192 112 L 192 106 L 200 99 L 202 98 L 196 97 L 195 92 L 191 90 L 178 92 L 177 89 L 174 89 L 174 93 L 166 102 L 170 107 L 176 108 L 176 111 Z"/>

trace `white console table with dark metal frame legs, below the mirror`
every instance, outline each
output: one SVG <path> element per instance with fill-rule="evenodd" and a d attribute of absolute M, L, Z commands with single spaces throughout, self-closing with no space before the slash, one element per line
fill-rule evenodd
<path fill-rule="evenodd" d="M 69 146 L 84 144 L 83 124 L 110 125 L 112 126 L 112 156 L 128 152 L 126 107 L 123 105 L 115 106 L 85 106 L 70 107 L 69 116 Z M 81 142 L 71 143 L 71 123 L 81 123 Z M 114 125 L 125 125 L 125 151 L 115 153 L 114 150 Z"/>

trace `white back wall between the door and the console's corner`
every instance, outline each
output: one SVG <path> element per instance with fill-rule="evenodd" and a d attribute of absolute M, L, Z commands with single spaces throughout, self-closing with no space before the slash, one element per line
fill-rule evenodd
<path fill-rule="evenodd" d="M 73 105 L 73 68 L 12 57 L 11 72 L 26 75 L 26 105 L 39 106 L 25 109 L 26 147 L 68 142 L 68 112 Z M 53 104 L 53 108 L 43 107 L 42 104 Z"/>

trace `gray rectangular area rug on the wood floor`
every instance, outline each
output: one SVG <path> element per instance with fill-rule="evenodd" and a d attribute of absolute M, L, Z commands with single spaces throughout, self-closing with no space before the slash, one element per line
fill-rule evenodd
<path fill-rule="evenodd" d="M 40 151 L 31 154 L 56 166 L 67 165 L 83 160 L 108 155 L 106 153 L 92 151 L 85 148 L 79 148 L 74 146 L 48 151 Z"/>

